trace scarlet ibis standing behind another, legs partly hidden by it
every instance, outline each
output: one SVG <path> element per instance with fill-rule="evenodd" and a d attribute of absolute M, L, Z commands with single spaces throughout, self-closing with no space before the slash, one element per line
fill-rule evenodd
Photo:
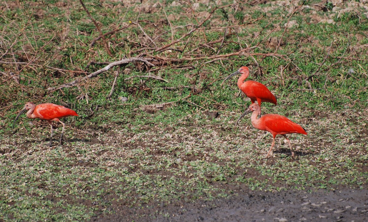
<path fill-rule="evenodd" d="M 259 107 L 261 107 L 262 102 L 269 102 L 277 105 L 276 97 L 273 96 L 273 94 L 270 92 L 269 89 L 265 85 L 263 85 L 260 82 L 248 80 L 245 81 L 245 79 L 249 76 L 249 69 L 246 66 L 240 67 L 238 71 L 234 72 L 233 74 L 227 76 L 222 84 L 227 80 L 233 77 L 234 75 L 241 74 L 240 78 L 238 79 L 238 87 L 245 93 L 245 96 L 249 97 L 251 99 L 252 103 L 255 103 L 257 100 Z M 239 120 L 244 117 L 245 114 L 241 115 L 239 119 L 236 121 L 236 124 L 239 122 Z M 259 116 L 261 116 L 261 109 L 259 109 Z M 236 125 L 235 124 L 235 125 Z"/>

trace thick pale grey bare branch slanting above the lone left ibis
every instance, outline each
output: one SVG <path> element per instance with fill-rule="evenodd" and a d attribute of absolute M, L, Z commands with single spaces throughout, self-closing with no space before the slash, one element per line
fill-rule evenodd
<path fill-rule="evenodd" d="M 135 61 L 141 61 L 141 62 L 144 62 L 148 65 L 151 65 L 151 66 L 155 66 L 153 65 L 151 62 L 143 59 L 143 58 L 137 58 L 137 57 L 133 57 L 133 58 L 127 58 L 127 59 L 123 59 L 123 60 L 120 60 L 120 61 L 115 61 L 115 62 L 112 62 L 110 63 L 109 65 L 106 65 L 104 68 L 102 69 L 99 69 L 97 70 L 96 72 L 93 72 L 87 76 L 84 76 L 83 78 L 80 78 L 80 79 L 75 79 L 74 81 L 70 82 L 70 83 L 64 83 L 63 85 L 59 86 L 59 87 L 48 87 L 47 88 L 47 92 L 54 92 L 56 90 L 59 90 L 59 89 L 63 89 L 63 88 L 66 88 L 66 87 L 71 87 L 71 86 L 75 86 L 77 83 L 79 83 L 81 80 L 86 80 L 86 79 L 91 79 L 103 72 L 106 72 L 107 70 L 109 70 L 111 67 L 114 67 L 116 65 L 124 65 L 124 64 L 128 64 L 130 62 L 135 62 Z"/>

